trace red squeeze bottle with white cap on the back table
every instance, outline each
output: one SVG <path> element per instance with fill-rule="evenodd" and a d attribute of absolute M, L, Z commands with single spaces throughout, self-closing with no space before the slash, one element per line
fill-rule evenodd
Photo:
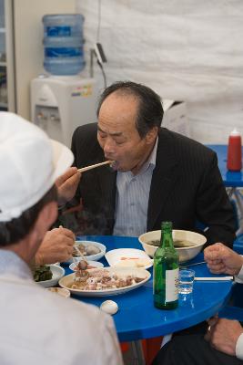
<path fill-rule="evenodd" d="M 232 172 L 238 172 L 242 168 L 241 136 L 236 129 L 228 137 L 227 168 Z"/>

